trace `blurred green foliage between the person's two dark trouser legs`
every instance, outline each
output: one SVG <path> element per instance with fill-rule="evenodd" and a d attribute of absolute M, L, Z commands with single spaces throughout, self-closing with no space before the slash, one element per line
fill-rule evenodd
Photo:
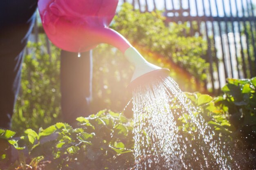
<path fill-rule="evenodd" d="M 27 128 L 34 130 L 60 120 L 60 50 L 51 46 L 52 54 L 40 42 L 27 44 L 29 52 L 22 64 L 20 93 L 12 117 L 12 129 L 21 135 Z"/>

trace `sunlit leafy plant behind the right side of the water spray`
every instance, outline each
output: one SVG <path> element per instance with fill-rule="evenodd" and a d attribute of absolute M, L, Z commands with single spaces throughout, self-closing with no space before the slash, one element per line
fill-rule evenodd
<path fill-rule="evenodd" d="M 186 96 L 190 99 L 192 105 L 196 108 L 198 112 L 194 112 L 195 119 L 199 121 L 198 116 L 202 116 L 204 122 L 199 121 L 199 124 L 202 124 L 203 127 L 208 126 L 209 133 L 213 135 L 213 140 L 220 141 L 218 143 L 222 148 L 223 152 L 227 154 L 228 152 L 232 152 L 232 130 L 234 127 L 230 124 L 227 119 L 227 114 L 222 110 L 218 104 L 216 104 L 216 98 L 211 97 L 209 95 L 204 95 L 201 93 L 185 93 Z M 175 101 L 176 99 L 174 99 Z M 179 126 L 179 132 L 182 135 L 182 139 L 186 141 L 186 145 L 188 148 L 186 149 L 186 157 L 185 162 L 190 164 L 191 167 L 195 169 L 202 169 L 199 166 L 199 162 L 204 163 L 205 159 L 208 160 L 209 169 L 218 169 L 218 165 L 215 163 L 215 157 L 211 152 L 204 152 L 200 150 L 200 148 L 208 148 L 209 146 L 205 144 L 204 137 L 201 136 L 200 130 L 198 126 L 195 125 L 193 121 L 191 121 L 191 116 L 186 112 L 183 114 L 181 110 L 183 106 L 180 106 L 179 103 L 173 104 L 172 109 L 176 111 L 177 116 L 175 117 L 177 121 L 177 125 Z M 208 130 L 205 132 L 207 135 Z M 189 147 L 190 146 L 190 147 Z M 199 156 L 197 161 L 195 161 L 195 153 Z M 204 156 L 205 155 L 205 156 Z M 229 157 L 227 157 L 229 159 Z M 229 160 L 230 165 L 234 163 L 233 160 Z"/>

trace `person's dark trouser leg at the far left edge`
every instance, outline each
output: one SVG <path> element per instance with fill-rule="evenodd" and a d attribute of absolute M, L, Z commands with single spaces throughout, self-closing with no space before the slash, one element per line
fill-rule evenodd
<path fill-rule="evenodd" d="M 36 0 L 0 1 L 0 127 L 10 128 L 20 88 L 24 48 L 35 20 Z"/>

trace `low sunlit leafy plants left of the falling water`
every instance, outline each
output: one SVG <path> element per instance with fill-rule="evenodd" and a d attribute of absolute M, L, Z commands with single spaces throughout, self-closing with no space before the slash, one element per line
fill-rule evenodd
<path fill-rule="evenodd" d="M 132 123 L 119 113 L 106 110 L 78 117 L 77 128 L 56 123 L 39 132 L 25 130 L 19 144 L 26 147 L 30 164 L 43 158 L 47 170 L 127 169 L 133 164 Z M 22 157 L 21 157 L 22 158 Z M 27 165 L 22 163 L 22 165 Z"/>

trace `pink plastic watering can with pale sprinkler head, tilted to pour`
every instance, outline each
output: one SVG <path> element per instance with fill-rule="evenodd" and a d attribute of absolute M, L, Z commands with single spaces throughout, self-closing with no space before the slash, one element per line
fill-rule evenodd
<path fill-rule="evenodd" d="M 108 28 L 117 4 L 118 0 L 39 0 L 38 9 L 45 33 L 59 48 L 84 52 L 108 43 L 122 51 L 135 65 L 130 86 L 152 75 L 168 75 L 167 68 L 147 62 L 121 34 Z"/>

